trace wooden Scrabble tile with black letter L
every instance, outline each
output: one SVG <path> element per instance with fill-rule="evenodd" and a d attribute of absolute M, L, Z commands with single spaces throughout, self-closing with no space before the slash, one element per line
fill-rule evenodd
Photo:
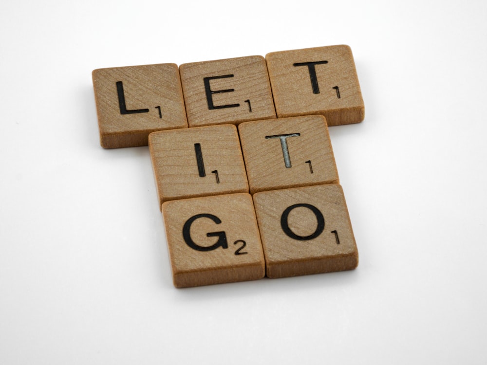
<path fill-rule="evenodd" d="M 177 65 L 114 67 L 92 75 L 101 146 L 147 146 L 150 132 L 187 128 Z"/>

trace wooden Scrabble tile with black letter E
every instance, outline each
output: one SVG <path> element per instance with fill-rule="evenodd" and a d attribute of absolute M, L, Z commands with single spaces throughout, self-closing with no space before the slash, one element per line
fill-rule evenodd
<path fill-rule="evenodd" d="M 179 66 L 189 127 L 276 117 L 262 56 Z"/>

